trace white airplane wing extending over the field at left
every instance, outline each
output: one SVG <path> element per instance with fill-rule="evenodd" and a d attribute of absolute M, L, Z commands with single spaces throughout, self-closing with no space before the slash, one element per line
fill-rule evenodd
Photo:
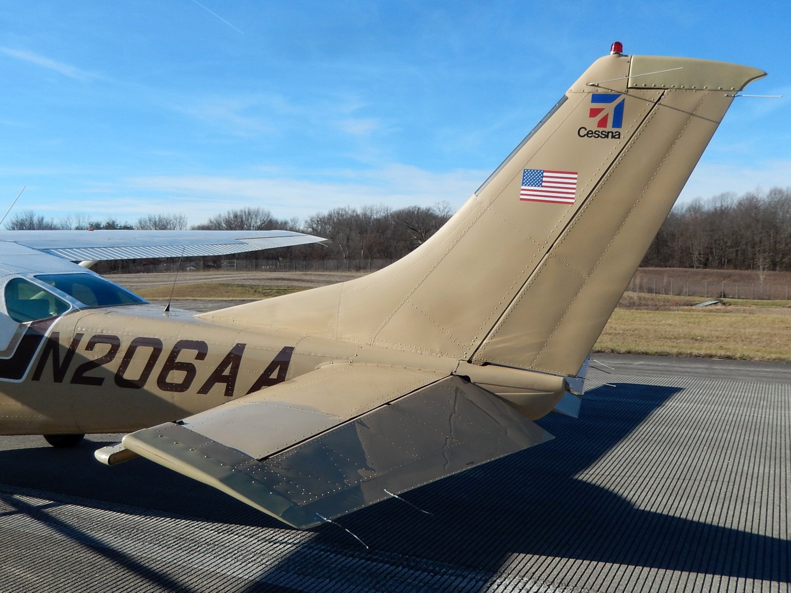
<path fill-rule="evenodd" d="M 0 241 L 72 262 L 229 255 L 318 243 L 290 231 L 2 231 Z M 20 254 L 16 254 L 20 255 Z"/>

